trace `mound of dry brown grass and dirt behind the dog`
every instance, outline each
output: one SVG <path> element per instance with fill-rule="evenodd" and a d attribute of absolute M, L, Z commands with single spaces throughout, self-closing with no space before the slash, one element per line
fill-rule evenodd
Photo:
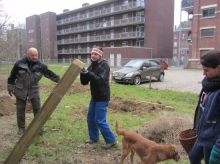
<path fill-rule="evenodd" d="M 136 132 L 156 143 L 172 144 L 177 147 L 180 155 L 186 156 L 187 154 L 180 144 L 178 134 L 192 127 L 192 117 L 188 115 L 180 117 L 172 113 L 142 125 Z"/>

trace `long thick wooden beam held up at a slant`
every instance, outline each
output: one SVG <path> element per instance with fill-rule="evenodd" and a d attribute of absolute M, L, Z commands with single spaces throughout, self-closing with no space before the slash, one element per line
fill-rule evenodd
<path fill-rule="evenodd" d="M 31 143 L 34 141 L 34 138 L 41 131 L 41 128 L 44 126 L 52 112 L 55 110 L 63 96 L 66 94 L 72 83 L 81 72 L 84 65 L 84 63 L 77 59 L 73 61 L 66 73 L 61 78 L 60 82 L 56 85 L 53 92 L 45 101 L 44 105 L 34 117 L 31 124 L 25 130 L 24 134 L 21 136 L 14 149 L 7 157 L 4 164 L 19 163 Z"/>

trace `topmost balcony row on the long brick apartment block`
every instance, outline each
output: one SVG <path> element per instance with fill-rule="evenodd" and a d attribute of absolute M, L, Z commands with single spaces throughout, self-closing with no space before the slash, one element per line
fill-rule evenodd
<path fill-rule="evenodd" d="M 115 6 L 112 8 L 110 7 L 110 8 L 102 9 L 99 11 L 89 12 L 89 13 L 82 14 L 79 16 L 58 20 L 57 25 L 59 26 L 59 25 L 64 25 L 64 24 L 76 23 L 80 21 L 89 20 L 92 18 L 94 19 L 94 18 L 103 17 L 107 15 L 112 15 L 112 14 L 115 15 L 118 13 L 123 13 L 123 12 L 131 11 L 131 10 L 140 10 L 140 9 L 143 9 L 144 7 L 145 7 L 144 1 L 132 2 L 132 3 L 128 3 L 127 5 L 120 5 L 120 6 Z"/>

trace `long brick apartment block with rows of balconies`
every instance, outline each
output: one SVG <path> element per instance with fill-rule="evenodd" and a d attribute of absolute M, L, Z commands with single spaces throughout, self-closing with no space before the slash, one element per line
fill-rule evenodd
<path fill-rule="evenodd" d="M 103 47 L 111 66 L 121 58 L 172 58 L 173 19 L 174 0 L 106 0 L 66 9 L 57 15 L 58 59 L 89 62 L 93 46 Z"/>

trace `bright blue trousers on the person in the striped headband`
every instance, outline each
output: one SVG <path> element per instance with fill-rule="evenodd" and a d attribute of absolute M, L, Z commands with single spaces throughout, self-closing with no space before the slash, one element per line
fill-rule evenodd
<path fill-rule="evenodd" d="M 91 140 L 99 140 L 99 130 L 106 144 L 115 141 L 115 136 L 106 122 L 107 106 L 109 101 L 90 100 L 87 115 L 87 124 Z"/>

